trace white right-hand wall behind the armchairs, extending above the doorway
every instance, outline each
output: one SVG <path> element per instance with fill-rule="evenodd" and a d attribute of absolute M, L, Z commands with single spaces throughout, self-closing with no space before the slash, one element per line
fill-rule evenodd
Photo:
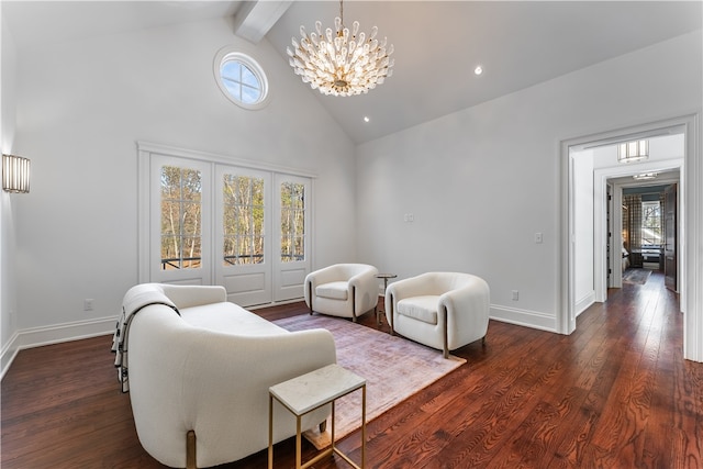
<path fill-rule="evenodd" d="M 493 317 L 557 330 L 559 142 L 700 112 L 701 40 L 687 34 L 358 146 L 359 256 L 399 278 L 477 273 Z"/>

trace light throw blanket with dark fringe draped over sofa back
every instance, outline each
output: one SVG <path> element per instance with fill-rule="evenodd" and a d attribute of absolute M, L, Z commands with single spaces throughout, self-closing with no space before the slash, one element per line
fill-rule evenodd
<path fill-rule="evenodd" d="M 130 298 L 124 299 L 124 304 L 122 305 L 122 314 L 120 315 L 120 320 L 115 326 L 114 335 L 112 336 L 112 351 L 115 354 L 114 366 L 119 368 L 118 370 L 118 379 L 122 382 L 122 392 L 130 391 L 130 381 L 127 373 L 127 349 L 125 345 L 127 343 L 127 335 L 130 334 L 130 323 L 132 322 L 132 317 L 144 308 L 149 306 L 152 304 L 164 304 L 170 309 L 172 309 L 176 314 L 180 315 L 178 308 L 174 304 L 172 301 L 168 299 L 164 293 L 154 291 L 154 290 L 145 290 L 142 292 L 136 292 Z"/>

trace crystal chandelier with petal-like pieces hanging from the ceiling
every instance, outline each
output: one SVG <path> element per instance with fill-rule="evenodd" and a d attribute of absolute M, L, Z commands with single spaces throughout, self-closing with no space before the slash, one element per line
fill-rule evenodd
<path fill-rule="evenodd" d="M 300 44 L 293 37 L 293 47 L 287 48 L 289 63 L 295 75 L 312 89 L 323 94 L 354 96 L 367 93 L 392 75 L 393 45 L 386 47 L 387 38 L 376 38 L 378 27 L 373 26 L 368 38 L 359 33 L 359 22 L 352 31 L 344 26 L 344 7 L 339 1 L 339 16 L 334 20 L 335 31 L 315 22 L 317 33 L 305 33 L 300 26 Z"/>

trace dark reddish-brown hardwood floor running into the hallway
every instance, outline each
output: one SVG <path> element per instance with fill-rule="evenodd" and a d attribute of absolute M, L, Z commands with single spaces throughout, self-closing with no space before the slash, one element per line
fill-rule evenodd
<path fill-rule="evenodd" d="M 305 309 L 257 312 L 275 320 Z M 376 327 L 372 314 L 362 323 Z M 682 327 L 677 295 L 656 272 L 612 290 L 569 336 L 492 321 L 486 347 L 455 353 L 465 366 L 369 423 L 367 467 L 703 468 L 703 364 L 683 360 Z M 18 355 L 2 380 L 3 469 L 164 467 L 137 440 L 110 344 Z M 358 460 L 358 432 L 339 447 Z M 293 451 L 292 439 L 277 445 L 276 467 L 294 467 Z M 265 468 L 266 458 L 223 468 Z"/>

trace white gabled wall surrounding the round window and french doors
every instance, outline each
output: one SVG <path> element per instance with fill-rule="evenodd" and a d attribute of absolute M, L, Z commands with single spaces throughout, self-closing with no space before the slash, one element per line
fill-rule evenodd
<path fill-rule="evenodd" d="M 264 110 L 215 83 L 215 53 L 234 43 L 268 74 Z M 243 43 L 225 21 L 20 51 L 16 103 L 15 150 L 33 170 L 15 200 L 25 343 L 104 331 L 136 283 L 137 141 L 315 174 L 313 267 L 356 257 L 354 145 L 268 42 Z"/>

